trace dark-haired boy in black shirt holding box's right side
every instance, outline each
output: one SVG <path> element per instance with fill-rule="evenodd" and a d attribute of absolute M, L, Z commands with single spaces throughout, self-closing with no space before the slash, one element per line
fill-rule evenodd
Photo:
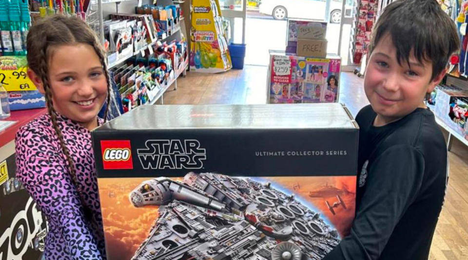
<path fill-rule="evenodd" d="M 399 0 L 373 29 L 360 126 L 356 218 L 325 260 L 427 260 L 444 200 L 447 148 L 424 98 L 459 47 L 436 0 Z"/>

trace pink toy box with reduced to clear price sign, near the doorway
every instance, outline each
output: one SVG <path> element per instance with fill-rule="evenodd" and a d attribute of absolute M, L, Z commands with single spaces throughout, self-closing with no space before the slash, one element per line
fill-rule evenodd
<path fill-rule="evenodd" d="M 268 102 L 337 102 L 341 59 L 305 58 L 270 52 Z"/>

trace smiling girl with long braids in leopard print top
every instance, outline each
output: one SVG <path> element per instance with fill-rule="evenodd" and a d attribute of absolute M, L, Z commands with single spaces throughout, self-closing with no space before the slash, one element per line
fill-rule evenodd
<path fill-rule="evenodd" d="M 47 260 L 106 258 L 90 135 L 109 103 L 104 57 L 78 18 L 40 20 L 27 37 L 28 76 L 48 113 L 17 133 L 17 177 L 47 217 Z"/>

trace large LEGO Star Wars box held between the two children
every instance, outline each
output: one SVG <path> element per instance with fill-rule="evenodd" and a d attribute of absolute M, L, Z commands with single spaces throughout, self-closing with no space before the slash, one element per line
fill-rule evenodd
<path fill-rule="evenodd" d="M 109 260 L 319 260 L 350 231 L 339 103 L 140 106 L 92 135 Z"/>

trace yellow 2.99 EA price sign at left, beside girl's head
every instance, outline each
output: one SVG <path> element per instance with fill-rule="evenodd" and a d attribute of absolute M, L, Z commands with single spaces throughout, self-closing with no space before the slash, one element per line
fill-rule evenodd
<path fill-rule="evenodd" d="M 7 91 L 36 90 L 34 83 L 28 78 L 26 57 L 3 56 L 0 58 L 0 84 Z"/>

